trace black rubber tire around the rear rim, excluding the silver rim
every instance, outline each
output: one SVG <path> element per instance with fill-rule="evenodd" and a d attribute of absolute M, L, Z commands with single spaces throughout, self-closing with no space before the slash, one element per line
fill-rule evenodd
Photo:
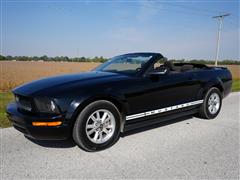
<path fill-rule="evenodd" d="M 214 93 L 218 95 L 220 104 L 218 110 L 215 113 L 211 113 L 209 110 L 208 101 L 211 95 L 213 95 Z M 222 94 L 218 88 L 212 87 L 205 94 L 203 104 L 199 108 L 199 117 L 204 119 L 214 119 L 219 114 L 221 107 L 222 107 Z"/>

